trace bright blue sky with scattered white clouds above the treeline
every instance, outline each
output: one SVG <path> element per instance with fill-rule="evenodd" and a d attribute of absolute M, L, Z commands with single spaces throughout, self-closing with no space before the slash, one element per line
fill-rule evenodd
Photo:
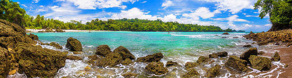
<path fill-rule="evenodd" d="M 253 32 L 271 28 L 269 15 L 260 19 L 256 0 L 12 0 L 30 16 L 83 23 L 94 19 L 144 19 L 215 25 Z"/>

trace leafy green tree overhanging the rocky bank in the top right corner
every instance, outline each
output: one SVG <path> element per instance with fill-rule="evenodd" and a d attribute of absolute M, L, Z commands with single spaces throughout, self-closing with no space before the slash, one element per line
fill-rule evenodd
<path fill-rule="evenodd" d="M 257 0 L 254 9 L 260 9 L 261 19 L 269 14 L 272 23 L 269 31 L 292 28 L 292 0 Z"/>

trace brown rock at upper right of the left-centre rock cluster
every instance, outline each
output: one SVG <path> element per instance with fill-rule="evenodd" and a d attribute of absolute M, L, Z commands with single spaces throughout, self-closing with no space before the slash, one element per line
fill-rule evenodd
<path fill-rule="evenodd" d="M 126 49 L 125 47 L 123 46 L 119 46 L 118 48 L 116 48 L 114 51 L 114 53 L 119 53 L 123 59 L 135 59 L 134 55 L 131 54 L 131 52 Z"/>

